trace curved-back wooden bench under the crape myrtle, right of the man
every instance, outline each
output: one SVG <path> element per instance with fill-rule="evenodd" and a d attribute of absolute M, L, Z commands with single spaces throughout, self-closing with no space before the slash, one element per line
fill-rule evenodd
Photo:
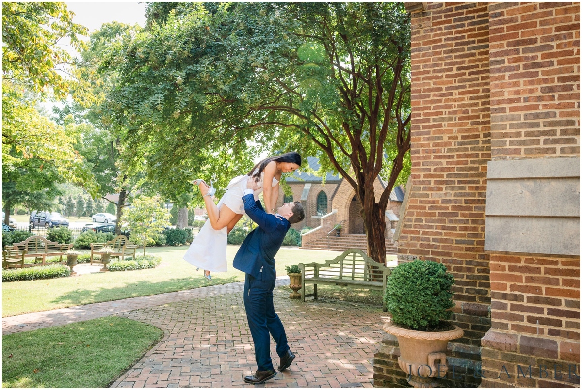
<path fill-rule="evenodd" d="M 386 290 L 386 280 L 390 269 L 382 263 L 375 262 L 360 249 L 348 249 L 333 260 L 320 263 L 300 263 L 301 298 L 313 296 L 317 299 L 317 285 L 367 288 Z M 305 285 L 313 284 L 313 294 L 305 294 Z M 386 307 L 382 307 L 386 311 Z"/>

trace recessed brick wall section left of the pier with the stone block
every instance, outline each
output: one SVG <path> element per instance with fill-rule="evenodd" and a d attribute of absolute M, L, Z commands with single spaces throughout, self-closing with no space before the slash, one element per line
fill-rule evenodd
<path fill-rule="evenodd" d="M 453 321 L 474 346 L 489 329 L 488 16 L 488 3 L 429 3 L 411 15 L 412 187 L 398 242 L 399 261 L 442 262 L 455 275 Z"/>

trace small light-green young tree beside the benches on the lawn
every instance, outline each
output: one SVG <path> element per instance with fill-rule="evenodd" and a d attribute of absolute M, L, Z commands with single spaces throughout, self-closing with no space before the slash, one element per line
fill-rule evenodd
<path fill-rule="evenodd" d="M 135 198 L 131 208 L 123 209 L 122 224 L 127 224 L 132 237 L 137 237 L 144 246 L 154 242 L 154 236 L 169 226 L 169 214 L 159 205 L 159 196 Z"/>

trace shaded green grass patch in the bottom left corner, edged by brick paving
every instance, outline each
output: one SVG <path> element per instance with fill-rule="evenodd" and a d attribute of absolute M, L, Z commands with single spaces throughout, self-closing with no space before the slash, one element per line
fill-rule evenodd
<path fill-rule="evenodd" d="M 2 336 L 2 387 L 103 388 L 164 332 L 104 317 Z"/>

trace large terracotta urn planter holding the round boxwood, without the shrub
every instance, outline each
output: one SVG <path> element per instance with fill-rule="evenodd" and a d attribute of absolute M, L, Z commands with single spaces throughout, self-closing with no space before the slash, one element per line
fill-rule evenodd
<path fill-rule="evenodd" d="M 409 374 L 408 382 L 416 388 L 436 387 L 435 377 L 446 377 L 446 346 L 450 340 L 463 336 L 457 325 L 445 332 L 420 332 L 384 325 L 384 331 L 398 338 L 400 357 L 398 365 Z M 439 367 L 440 365 L 440 367 Z"/>

